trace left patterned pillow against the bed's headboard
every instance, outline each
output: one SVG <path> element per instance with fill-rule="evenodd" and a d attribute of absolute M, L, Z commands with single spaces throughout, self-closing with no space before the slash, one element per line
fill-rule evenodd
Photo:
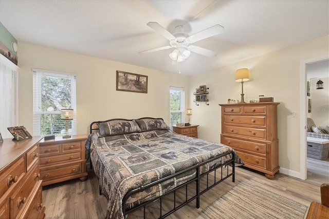
<path fill-rule="evenodd" d="M 135 120 L 111 120 L 97 123 L 100 132 L 100 138 L 110 135 L 122 135 L 133 132 L 140 132 L 140 128 Z"/>

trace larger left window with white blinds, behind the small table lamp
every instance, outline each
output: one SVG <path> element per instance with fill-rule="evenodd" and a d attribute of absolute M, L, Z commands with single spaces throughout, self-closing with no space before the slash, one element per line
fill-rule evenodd
<path fill-rule="evenodd" d="M 33 69 L 33 134 L 65 135 L 66 120 L 61 109 L 73 109 L 68 120 L 69 135 L 77 134 L 76 77 L 74 75 Z"/>

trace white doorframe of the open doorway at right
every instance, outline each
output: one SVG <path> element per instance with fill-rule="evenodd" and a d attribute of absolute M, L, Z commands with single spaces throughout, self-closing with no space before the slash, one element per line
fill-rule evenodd
<path fill-rule="evenodd" d="M 302 60 L 300 62 L 300 179 L 307 178 L 306 165 L 306 65 L 316 62 L 329 60 L 329 55 L 317 57 L 313 59 Z"/>

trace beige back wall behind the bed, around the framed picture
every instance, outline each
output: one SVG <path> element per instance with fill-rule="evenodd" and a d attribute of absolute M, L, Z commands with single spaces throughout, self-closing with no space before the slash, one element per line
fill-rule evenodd
<path fill-rule="evenodd" d="M 32 68 L 77 76 L 77 134 L 92 121 L 161 117 L 169 124 L 169 87 L 185 87 L 188 77 L 19 42 L 19 125 L 33 130 Z M 148 94 L 116 90 L 116 70 L 148 76 Z M 188 103 L 188 98 L 186 98 Z M 187 104 L 186 104 L 187 105 Z"/>

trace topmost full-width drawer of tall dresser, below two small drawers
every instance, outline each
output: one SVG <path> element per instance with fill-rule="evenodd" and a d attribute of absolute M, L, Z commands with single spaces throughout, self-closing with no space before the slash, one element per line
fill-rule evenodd
<path fill-rule="evenodd" d="M 224 123 L 266 127 L 266 116 L 224 115 Z"/>

